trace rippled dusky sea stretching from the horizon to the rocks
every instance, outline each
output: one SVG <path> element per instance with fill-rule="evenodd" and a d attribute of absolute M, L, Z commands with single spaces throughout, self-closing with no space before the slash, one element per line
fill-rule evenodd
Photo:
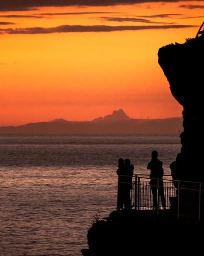
<path fill-rule="evenodd" d="M 81 256 L 92 223 L 116 209 L 117 160 L 164 174 L 180 152 L 174 135 L 1 135 L 0 256 Z"/>

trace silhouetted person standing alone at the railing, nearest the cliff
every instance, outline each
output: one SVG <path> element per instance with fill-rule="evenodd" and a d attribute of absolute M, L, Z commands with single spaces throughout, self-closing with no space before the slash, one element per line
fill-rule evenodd
<path fill-rule="evenodd" d="M 158 152 L 153 150 L 151 152 L 151 161 L 147 165 L 147 169 L 150 170 L 149 178 L 150 178 L 150 186 L 151 192 L 153 196 L 153 210 L 157 210 L 157 188 L 158 188 L 158 196 L 161 199 L 161 205 L 163 209 L 166 209 L 165 196 L 163 191 L 163 163 L 157 158 Z"/>

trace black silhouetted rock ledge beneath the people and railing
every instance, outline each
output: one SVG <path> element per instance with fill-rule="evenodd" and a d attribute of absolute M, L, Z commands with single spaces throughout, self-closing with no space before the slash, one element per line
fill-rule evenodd
<path fill-rule="evenodd" d="M 177 218 L 170 210 L 113 211 L 87 231 L 84 256 L 141 253 L 198 255 L 203 251 L 203 221 Z"/>

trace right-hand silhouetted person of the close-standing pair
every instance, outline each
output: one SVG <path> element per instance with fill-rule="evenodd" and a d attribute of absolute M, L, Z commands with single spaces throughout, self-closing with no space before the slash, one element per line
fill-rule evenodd
<path fill-rule="evenodd" d="M 130 163 L 128 158 L 124 160 L 124 168 L 124 209 L 130 210 L 132 208 L 130 191 L 132 190 L 132 176 L 134 166 Z"/>

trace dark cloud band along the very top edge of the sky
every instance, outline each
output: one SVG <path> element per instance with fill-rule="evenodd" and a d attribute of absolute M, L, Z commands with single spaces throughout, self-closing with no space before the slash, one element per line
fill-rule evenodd
<path fill-rule="evenodd" d="M 184 0 L 183 0 L 184 1 Z M 202 1 L 202 0 L 191 0 Z M 0 11 L 26 11 L 38 7 L 63 6 L 115 6 L 141 3 L 155 3 L 160 0 L 0 0 Z M 178 0 L 164 0 L 164 3 L 177 3 Z"/>

